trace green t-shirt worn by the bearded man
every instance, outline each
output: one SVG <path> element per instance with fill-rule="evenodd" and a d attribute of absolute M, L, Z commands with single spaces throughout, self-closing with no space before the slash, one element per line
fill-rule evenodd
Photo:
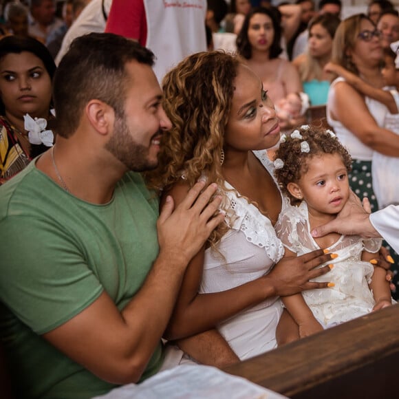
<path fill-rule="evenodd" d="M 114 387 L 41 334 L 103 290 L 122 310 L 158 255 L 157 219 L 158 199 L 138 173 L 127 173 L 105 205 L 78 200 L 34 162 L 0 187 L 0 329 L 19 397 L 90 398 Z M 142 379 L 162 356 L 160 343 Z"/>

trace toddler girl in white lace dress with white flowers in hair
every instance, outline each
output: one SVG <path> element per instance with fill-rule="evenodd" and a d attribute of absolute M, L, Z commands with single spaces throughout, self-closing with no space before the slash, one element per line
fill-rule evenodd
<path fill-rule="evenodd" d="M 301 127 L 280 144 L 275 174 L 291 204 L 276 224 L 285 257 L 318 248 L 336 254 L 330 262 L 330 288 L 283 297 L 296 325 L 292 337 L 303 338 L 326 327 L 391 305 L 385 269 L 374 267 L 381 239 L 330 233 L 314 239 L 312 228 L 333 220 L 349 199 L 349 153 L 330 130 Z M 295 206 L 297 205 L 297 206 Z"/>

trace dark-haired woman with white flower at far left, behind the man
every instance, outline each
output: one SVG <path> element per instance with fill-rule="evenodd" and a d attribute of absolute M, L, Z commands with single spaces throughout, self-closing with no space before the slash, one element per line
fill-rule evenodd
<path fill-rule="evenodd" d="M 50 52 L 39 41 L 17 36 L 0 40 L 0 184 L 52 145 L 45 125 L 52 118 L 55 70 Z"/>

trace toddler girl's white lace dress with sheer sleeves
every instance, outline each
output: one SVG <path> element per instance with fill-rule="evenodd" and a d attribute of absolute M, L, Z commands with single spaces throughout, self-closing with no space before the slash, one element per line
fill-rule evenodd
<path fill-rule="evenodd" d="M 305 202 L 299 207 L 287 204 L 285 214 L 276 225 L 276 231 L 284 246 L 297 255 L 320 249 L 310 235 L 308 206 Z M 381 239 L 363 240 L 359 236 L 342 235 L 328 248 L 330 252 L 338 254 L 336 259 L 328 261 L 334 264 L 334 268 L 314 281 L 330 281 L 335 286 L 302 293 L 321 325 L 332 327 L 372 310 L 375 301 L 368 283 L 374 266 L 361 261 L 361 252 L 378 252 L 380 246 Z"/>

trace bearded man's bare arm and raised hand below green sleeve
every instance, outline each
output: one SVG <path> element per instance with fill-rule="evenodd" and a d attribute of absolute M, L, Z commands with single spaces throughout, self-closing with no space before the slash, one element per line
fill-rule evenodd
<path fill-rule="evenodd" d="M 72 319 L 43 334 L 52 345 L 109 382 L 137 382 L 175 304 L 191 257 L 222 222 L 217 186 L 197 183 L 173 211 L 168 197 L 158 219 L 160 253 L 142 288 L 120 312 L 106 292 Z"/>

